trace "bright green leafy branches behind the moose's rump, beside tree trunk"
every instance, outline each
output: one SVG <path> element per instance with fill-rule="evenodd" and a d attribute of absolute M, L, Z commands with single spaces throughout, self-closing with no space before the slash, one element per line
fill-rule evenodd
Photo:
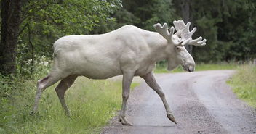
<path fill-rule="evenodd" d="M 115 18 L 111 14 L 119 7 L 120 0 L 24 1 L 17 48 L 18 72 L 28 75 L 33 72 L 33 64 L 42 58 L 52 59 L 52 44 L 60 37 L 113 30 Z"/>

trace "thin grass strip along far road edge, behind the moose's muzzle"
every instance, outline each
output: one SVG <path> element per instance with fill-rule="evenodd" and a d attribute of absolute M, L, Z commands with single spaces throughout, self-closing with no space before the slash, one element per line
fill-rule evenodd
<path fill-rule="evenodd" d="M 218 64 L 204 64 L 199 63 L 196 64 L 196 71 L 204 71 L 204 70 L 236 70 L 239 67 L 239 64 L 235 63 L 226 63 L 221 62 Z M 154 70 L 156 73 L 169 73 L 169 72 L 184 72 L 183 67 L 178 66 L 172 71 L 167 70 L 167 64 L 156 64 L 156 68 Z"/>

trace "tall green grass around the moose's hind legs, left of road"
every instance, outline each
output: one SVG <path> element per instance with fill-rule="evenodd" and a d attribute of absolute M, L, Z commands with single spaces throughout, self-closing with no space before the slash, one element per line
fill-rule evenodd
<path fill-rule="evenodd" d="M 65 96 L 71 117 L 64 115 L 55 93 L 57 84 L 42 93 L 39 113 L 31 115 L 36 80 L 13 84 L 13 93 L 0 96 L 0 133 L 100 133 L 121 107 L 121 83 L 81 77 Z"/>

